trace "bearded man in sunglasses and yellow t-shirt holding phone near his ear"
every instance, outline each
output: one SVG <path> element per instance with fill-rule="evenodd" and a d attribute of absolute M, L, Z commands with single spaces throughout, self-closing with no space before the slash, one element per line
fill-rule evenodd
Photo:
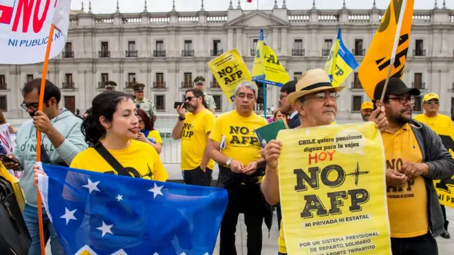
<path fill-rule="evenodd" d="M 184 102 L 177 107 L 180 116 L 172 131 L 173 139 L 182 139 L 181 168 L 184 183 L 210 186 L 215 162 L 210 159 L 208 136 L 216 117 L 206 109 L 204 92 L 200 89 L 188 89 Z"/>

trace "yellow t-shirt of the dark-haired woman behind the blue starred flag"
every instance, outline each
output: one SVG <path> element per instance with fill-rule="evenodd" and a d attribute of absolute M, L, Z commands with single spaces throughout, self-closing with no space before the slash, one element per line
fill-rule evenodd
<path fill-rule="evenodd" d="M 132 177 L 166 181 L 169 178 L 155 148 L 150 144 L 130 140 L 131 144 L 122 150 L 108 150 L 112 156 L 131 174 Z M 113 173 L 114 168 L 94 148 L 87 148 L 71 162 L 72 168 L 91 170 L 99 173 Z"/>

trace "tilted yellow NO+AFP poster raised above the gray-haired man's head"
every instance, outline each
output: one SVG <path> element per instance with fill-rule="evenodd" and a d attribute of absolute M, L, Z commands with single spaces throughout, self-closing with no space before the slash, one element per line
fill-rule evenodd
<path fill-rule="evenodd" d="M 235 100 L 237 85 L 252 79 L 248 66 L 235 48 L 208 62 L 208 67 L 213 72 L 228 102 Z"/>

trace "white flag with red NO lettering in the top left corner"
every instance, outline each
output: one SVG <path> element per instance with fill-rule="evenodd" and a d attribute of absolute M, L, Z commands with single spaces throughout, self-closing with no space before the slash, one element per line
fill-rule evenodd
<path fill-rule="evenodd" d="M 0 0 L 0 64 L 44 61 L 50 26 L 55 25 L 49 58 L 64 49 L 71 0 Z"/>

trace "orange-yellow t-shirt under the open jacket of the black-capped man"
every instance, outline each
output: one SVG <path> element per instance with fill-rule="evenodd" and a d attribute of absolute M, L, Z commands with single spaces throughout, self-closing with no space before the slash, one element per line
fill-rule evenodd
<path fill-rule="evenodd" d="M 382 133 L 386 167 L 398 170 L 405 162 L 422 162 L 420 145 L 411 130 L 404 124 L 396 133 Z M 429 231 L 426 184 L 422 177 L 407 181 L 402 188 L 387 188 L 391 237 L 422 236 Z"/>

